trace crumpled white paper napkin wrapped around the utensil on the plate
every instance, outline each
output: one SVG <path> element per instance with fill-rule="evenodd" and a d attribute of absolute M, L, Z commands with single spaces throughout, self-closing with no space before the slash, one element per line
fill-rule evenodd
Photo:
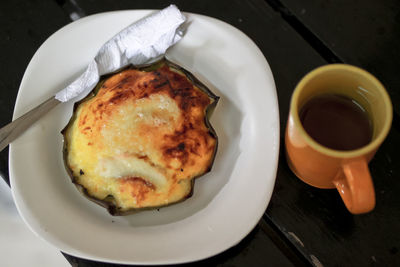
<path fill-rule="evenodd" d="M 175 5 L 145 17 L 105 43 L 86 71 L 55 96 L 61 102 L 89 93 L 101 75 L 129 64 L 140 65 L 161 55 L 182 38 L 179 26 L 186 20 Z"/>

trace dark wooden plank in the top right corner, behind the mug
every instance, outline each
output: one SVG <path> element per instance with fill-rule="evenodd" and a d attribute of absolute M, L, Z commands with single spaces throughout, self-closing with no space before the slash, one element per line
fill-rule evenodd
<path fill-rule="evenodd" d="M 374 74 L 400 114 L 399 1 L 280 1 L 343 62 Z"/>

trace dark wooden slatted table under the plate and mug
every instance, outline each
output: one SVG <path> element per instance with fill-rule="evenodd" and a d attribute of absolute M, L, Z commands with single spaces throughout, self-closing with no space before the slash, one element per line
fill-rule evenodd
<path fill-rule="evenodd" d="M 161 9 L 161 0 L 15 0 L 0 2 L 0 125 L 11 120 L 24 70 L 52 33 L 83 16 Z M 400 266 L 400 2 L 396 0 L 172 1 L 182 11 L 223 20 L 246 33 L 274 74 L 281 147 L 291 93 L 308 71 L 344 62 L 373 73 L 394 106 L 388 138 L 370 163 L 377 205 L 351 215 L 335 190 L 312 188 L 289 170 L 281 151 L 271 202 L 237 246 L 195 266 Z M 0 153 L 8 181 L 8 150 Z M 0 253 L 1 255 L 1 253 Z M 23 257 L 23 255 L 21 255 Z M 109 266 L 64 254 L 73 266 Z M 0 258 L 1 265 L 1 258 Z"/>

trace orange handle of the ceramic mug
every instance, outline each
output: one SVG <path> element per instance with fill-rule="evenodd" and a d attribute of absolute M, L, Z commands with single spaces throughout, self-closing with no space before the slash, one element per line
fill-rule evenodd
<path fill-rule="evenodd" d="M 344 178 L 333 181 L 347 209 L 353 214 L 366 213 L 375 207 L 375 190 L 367 161 L 362 158 L 343 163 Z"/>

